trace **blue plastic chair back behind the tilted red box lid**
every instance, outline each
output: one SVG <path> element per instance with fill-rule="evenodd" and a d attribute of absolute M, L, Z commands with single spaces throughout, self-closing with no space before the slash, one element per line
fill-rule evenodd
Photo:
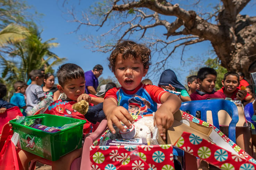
<path fill-rule="evenodd" d="M 195 100 L 182 102 L 180 110 L 189 111 L 191 115 L 196 116 L 196 111 L 201 111 L 201 120 L 207 122 L 206 112 L 212 111 L 213 125 L 220 129 L 218 122 L 218 111 L 225 110 L 232 118 L 229 124 L 229 138 L 236 143 L 236 124 L 239 120 L 236 104 L 229 100 Z"/>

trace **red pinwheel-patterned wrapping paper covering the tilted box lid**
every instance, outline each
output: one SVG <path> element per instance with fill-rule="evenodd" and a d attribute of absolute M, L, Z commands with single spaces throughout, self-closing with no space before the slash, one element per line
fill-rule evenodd
<path fill-rule="evenodd" d="M 187 153 L 197 156 L 209 162 L 212 165 L 222 170 L 255 170 L 256 160 L 243 151 L 237 144 L 232 142 L 226 135 L 224 135 L 215 126 L 197 119 L 196 117 L 183 112 L 183 119 L 204 125 L 206 127 L 212 127 L 225 142 L 227 142 L 238 154 L 231 153 L 221 146 L 209 142 L 200 136 L 195 134 L 183 132 L 179 140 L 177 140 L 174 146 L 179 147 Z"/>

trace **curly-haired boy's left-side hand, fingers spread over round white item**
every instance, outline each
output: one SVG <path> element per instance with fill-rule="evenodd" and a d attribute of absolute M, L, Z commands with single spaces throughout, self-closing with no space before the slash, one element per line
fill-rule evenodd
<path fill-rule="evenodd" d="M 114 134 L 116 133 L 113 123 L 117 126 L 118 129 L 125 132 L 125 127 L 119 122 L 121 120 L 128 128 L 132 128 L 131 123 L 134 123 L 134 120 L 131 114 L 122 106 L 117 106 L 113 109 L 111 114 L 106 115 L 108 120 L 109 130 Z M 130 122 L 131 123 L 130 123 Z"/>

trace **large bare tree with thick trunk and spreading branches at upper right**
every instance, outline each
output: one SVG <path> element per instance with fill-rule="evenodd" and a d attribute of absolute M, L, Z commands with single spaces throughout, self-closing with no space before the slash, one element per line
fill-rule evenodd
<path fill-rule="evenodd" d="M 75 15 L 73 19 L 79 24 L 77 30 L 82 25 L 94 26 L 98 29 L 104 25 L 109 27 L 106 32 L 95 38 L 97 41 L 85 39 L 85 41 L 94 43 L 95 51 L 109 52 L 112 50 L 115 42 L 108 39 L 108 44 L 104 44 L 105 36 L 115 37 L 115 41 L 130 37 L 142 39 L 148 41 L 147 45 L 153 49 L 153 53 L 158 52 L 167 56 L 164 60 L 158 60 L 160 61 L 157 63 L 158 66 L 163 66 L 162 64 L 166 63 L 178 47 L 182 46 L 181 62 L 183 62 L 186 46 L 209 40 L 222 66 L 229 71 L 247 72 L 248 63 L 254 58 L 248 56 L 254 56 L 256 51 L 256 17 L 241 16 L 239 12 L 249 1 L 221 0 L 211 6 L 213 11 L 203 10 L 204 12 L 196 13 L 194 7 L 188 6 L 195 11 L 185 10 L 179 4 L 173 5 L 171 4 L 173 1 L 167 2 L 167 0 L 115 0 L 111 1 L 111 6 L 105 7 L 104 4 L 100 6 L 100 9 L 93 10 L 92 16 L 94 17 L 100 11 L 96 18 L 98 22 L 92 20 L 88 13 L 83 14 L 81 20 Z M 195 0 L 193 5 L 199 5 L 200 2 L 201 0 Z M 180 3 L 182 6 L 182 2 Z M 176 18 L 173 19 L 170 16 Z M 215 20 L 212 21 L 212 19 Z M 106 21 L 109 21 L 110 25 L 107 25 Z M 160 36 L 159 32 L 154 32 L 156 35 L 150 32 L 155 31 L 152 28 L 159 28 L 159 26 L 165 28 L 164 31 L 160 29 L 163 32 Z"/>

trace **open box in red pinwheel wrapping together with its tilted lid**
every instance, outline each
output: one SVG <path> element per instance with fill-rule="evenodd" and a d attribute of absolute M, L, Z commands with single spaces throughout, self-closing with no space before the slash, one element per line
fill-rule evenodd
<path fill-rule="evenodd" d="M 173 146 L 220 169 L 256 169 L 256 160 L 215 126 L 181 110 L 174 114 L 167 141 L 159 145 L 101 146 L 106 133 L 90 146 L 92 169 L 174 169 Z M 165 144 L 167 142 L 167 144 Z"/>

